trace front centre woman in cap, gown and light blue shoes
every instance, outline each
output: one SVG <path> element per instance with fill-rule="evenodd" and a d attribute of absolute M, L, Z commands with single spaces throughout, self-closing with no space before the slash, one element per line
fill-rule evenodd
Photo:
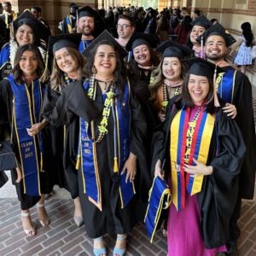
<path fill-rule="evenodd" d="M 77 167 L 86 233 L 94 238 L 95 255 L 107 254 L 102 236 L 111 233 L 117 235 L 113 254 L 124 255 L 126 234 L 143 218 L 138 197 L 148 197 L 149 174 L 137 167 L 146 125 L 126 78 L 125 49 L 105 31 L 84 54 L 89 79 L 63 91 L 48 120 L 80 117 Z"/>

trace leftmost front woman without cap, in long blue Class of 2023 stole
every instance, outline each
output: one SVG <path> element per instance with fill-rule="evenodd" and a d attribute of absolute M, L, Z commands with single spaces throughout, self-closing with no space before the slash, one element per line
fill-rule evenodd
<path fill-rule="evenodd" d="M 44 158 L 42 130 L 46 123 L 40 118 L 45 88 L 39 78 L 43 72 L 44 61 L 38 47 L 26 44 L 17 50 L 12 73 L 0 82 L 0 101 L 4 106 L 1 108 L 1 124 L 10 133 L 17 166 L 22 172 L 21 181 L 15 183 L 17 175 L 12 171 L 12 180 L 27 236 L 36 235 L 29 213 L 34 205 L 37 204 L 40 224 L 49 224 L 44 194 L 48 194 L 52 187 L 49 185 L 49 170 L 45 167 L 47 159 Z"/>

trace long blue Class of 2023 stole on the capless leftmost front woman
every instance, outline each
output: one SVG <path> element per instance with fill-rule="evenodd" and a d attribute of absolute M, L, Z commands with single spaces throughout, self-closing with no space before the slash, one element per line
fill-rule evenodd
<path fill-rule="evenodd" d="M 42 170 L 38 164 L 36 138 L 30 137 L 26 128 L 31 127 L 34 122 L 39 122 L 44 92 L 38 80 L 33 81 L 32 96 L 30 96 L 26 84 L 16 84 L 12 75 L 9 75 L 7 79 L 15 97 L 13 122 L 20 153 L 24 194 L 38 196 L 41 195 L 39 172 Z"/>

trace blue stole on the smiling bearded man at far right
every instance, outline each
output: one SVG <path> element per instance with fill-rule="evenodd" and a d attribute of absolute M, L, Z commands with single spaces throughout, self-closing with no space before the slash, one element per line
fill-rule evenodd
<path fill-rule="evenodd" d="M 224 102 L 233 103 L 236 69 L 229 68 L 225 73 L 219 73 L 216 79 L 218 95 Z"/>

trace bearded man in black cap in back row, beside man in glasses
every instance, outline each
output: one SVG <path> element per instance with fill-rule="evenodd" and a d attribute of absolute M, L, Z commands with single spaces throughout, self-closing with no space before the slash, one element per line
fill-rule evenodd
<path fill-rule="evenodd" d="M 82 33 L 79 51 L 83 52 L 105 28 L 106 24 L 95 9 L 85 6 L 78 10 L 77 31 Z"/>

